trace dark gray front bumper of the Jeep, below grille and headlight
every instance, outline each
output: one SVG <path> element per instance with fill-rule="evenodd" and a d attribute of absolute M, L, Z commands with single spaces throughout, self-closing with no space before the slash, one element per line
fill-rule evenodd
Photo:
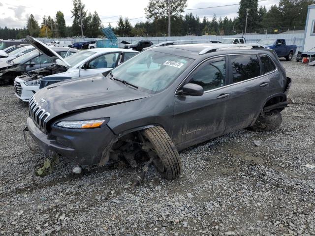
<path fill-rule="evenodd" d="M 104 150 L 108 150 L 116 138 L 107 125 L 95 129 L 66 129 L 54 126 L 48 135 L 44 134 L 30 117 L 27 119 L 27 125 L 33 140 L 43 152 L 60 154 L 81 166 L 99 164 L 107 153 Z"/>

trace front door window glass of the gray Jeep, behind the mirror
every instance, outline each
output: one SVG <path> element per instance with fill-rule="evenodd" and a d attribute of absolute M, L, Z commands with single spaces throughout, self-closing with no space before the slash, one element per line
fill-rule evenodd
<path fill-rule="evenodd" d="M 225 86 L 226 63 L 225 57 L 211 59 L 205 62 L 192 74 L 189 83 L 200 85 L 204 91 Z"/>

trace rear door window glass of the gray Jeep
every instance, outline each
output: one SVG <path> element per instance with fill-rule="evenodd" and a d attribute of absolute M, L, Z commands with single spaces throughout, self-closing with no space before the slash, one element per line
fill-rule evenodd
<path fill-rule="evenodd" d="M 230 56 L 233 83 L 260 76 L 259 61 L 256 55 Z"/>

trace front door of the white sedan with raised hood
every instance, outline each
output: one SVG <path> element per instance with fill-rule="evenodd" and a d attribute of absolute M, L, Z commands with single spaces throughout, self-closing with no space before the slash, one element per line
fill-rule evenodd
<path fill-rule="evenodd" d="M 119 53 L 107 53 L 95 57 L 86 63 L 86 69 L 80 68 L 80 77 L 103 73 L 114 68 L 118 63 Z"/>

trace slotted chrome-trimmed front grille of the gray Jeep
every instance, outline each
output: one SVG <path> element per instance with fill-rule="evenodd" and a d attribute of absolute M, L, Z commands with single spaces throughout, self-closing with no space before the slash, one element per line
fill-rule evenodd
<path fill-rule="evenodd" d="M 50 116 L 49 112 L 46 112 L 39 103 L 35 100 L 34 96 L 29 100 L 30 116 L 37 125 L 37 127 L 46 133 L 46 120 Z"/>

